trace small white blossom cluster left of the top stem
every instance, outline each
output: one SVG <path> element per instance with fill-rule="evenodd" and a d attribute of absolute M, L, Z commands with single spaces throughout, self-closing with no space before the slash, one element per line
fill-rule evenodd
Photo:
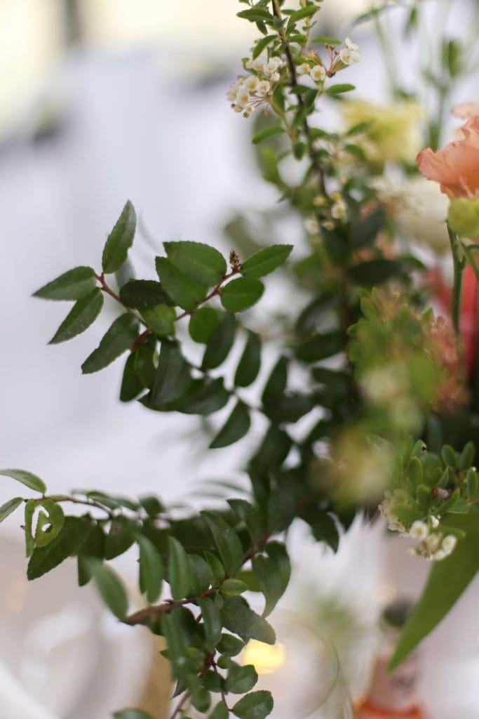
<path fill-rule="evenodd" d="M 233 110 L 249 117 L 257 106 L 267 102 L 272 86 L 281 78 L 279 70 L 283 65 L 281 58 L 268 60 L 264 52 L 248 60 L 245 67 L 251 70 L 251 75 L 240 75 L 226 93 Z"/>

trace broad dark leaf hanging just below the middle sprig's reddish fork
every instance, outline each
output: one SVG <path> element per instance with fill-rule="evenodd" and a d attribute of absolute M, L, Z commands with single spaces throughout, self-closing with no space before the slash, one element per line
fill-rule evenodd
<path fill-rule="evenodd" d="M 153 409 L 164 408 L 167 403 L 184 395 L 191 384 L 190 367 L 185 362 L 180 347 L 175 342 L 162 342 L 149 406 Z"/>

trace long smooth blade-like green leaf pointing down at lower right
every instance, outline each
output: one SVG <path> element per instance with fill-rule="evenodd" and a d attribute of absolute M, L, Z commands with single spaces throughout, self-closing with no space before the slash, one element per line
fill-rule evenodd
<path fill-rule="evenodd" d="M 445 533 L 448 525 L 465 531 L 466 536 L 458 541 L 450 557 L 434 562 L 421 598 L 401 631 L 389 669 L 401 664 L 440 623 L 479 570 L 477 513 L 448 517 L 443 525 Z"/>

